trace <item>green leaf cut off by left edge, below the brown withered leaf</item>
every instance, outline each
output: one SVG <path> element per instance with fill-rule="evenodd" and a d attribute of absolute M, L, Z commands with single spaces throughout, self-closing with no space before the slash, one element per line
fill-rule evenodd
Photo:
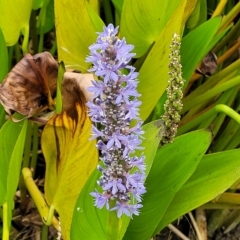
<path fill-rule="evenodd" d="M 7 200 L 9 165 L 22 123 L 8 120 L 0 130 L 0 206 Z"/>

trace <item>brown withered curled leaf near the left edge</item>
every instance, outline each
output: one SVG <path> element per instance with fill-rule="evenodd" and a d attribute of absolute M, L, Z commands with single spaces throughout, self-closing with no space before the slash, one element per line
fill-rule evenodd
<path fill-rule="evenodd" d="M 0 84 L 0 103 L 11 111 L 31 117 L 53 105 L 58 63 L 48 52 L 27 54 Z"/>

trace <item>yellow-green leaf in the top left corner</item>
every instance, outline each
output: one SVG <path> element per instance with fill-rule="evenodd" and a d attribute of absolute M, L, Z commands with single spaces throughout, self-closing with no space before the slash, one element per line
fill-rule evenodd
<path fill-rule="evenodd" d="M 20 32 L 24 35 L 23 50 L 27 51 L 29 36 L 29 18 L 32 11 L 32 0 L 0 1 L 0 28 L 7 46 L 14 45 Z"/>

